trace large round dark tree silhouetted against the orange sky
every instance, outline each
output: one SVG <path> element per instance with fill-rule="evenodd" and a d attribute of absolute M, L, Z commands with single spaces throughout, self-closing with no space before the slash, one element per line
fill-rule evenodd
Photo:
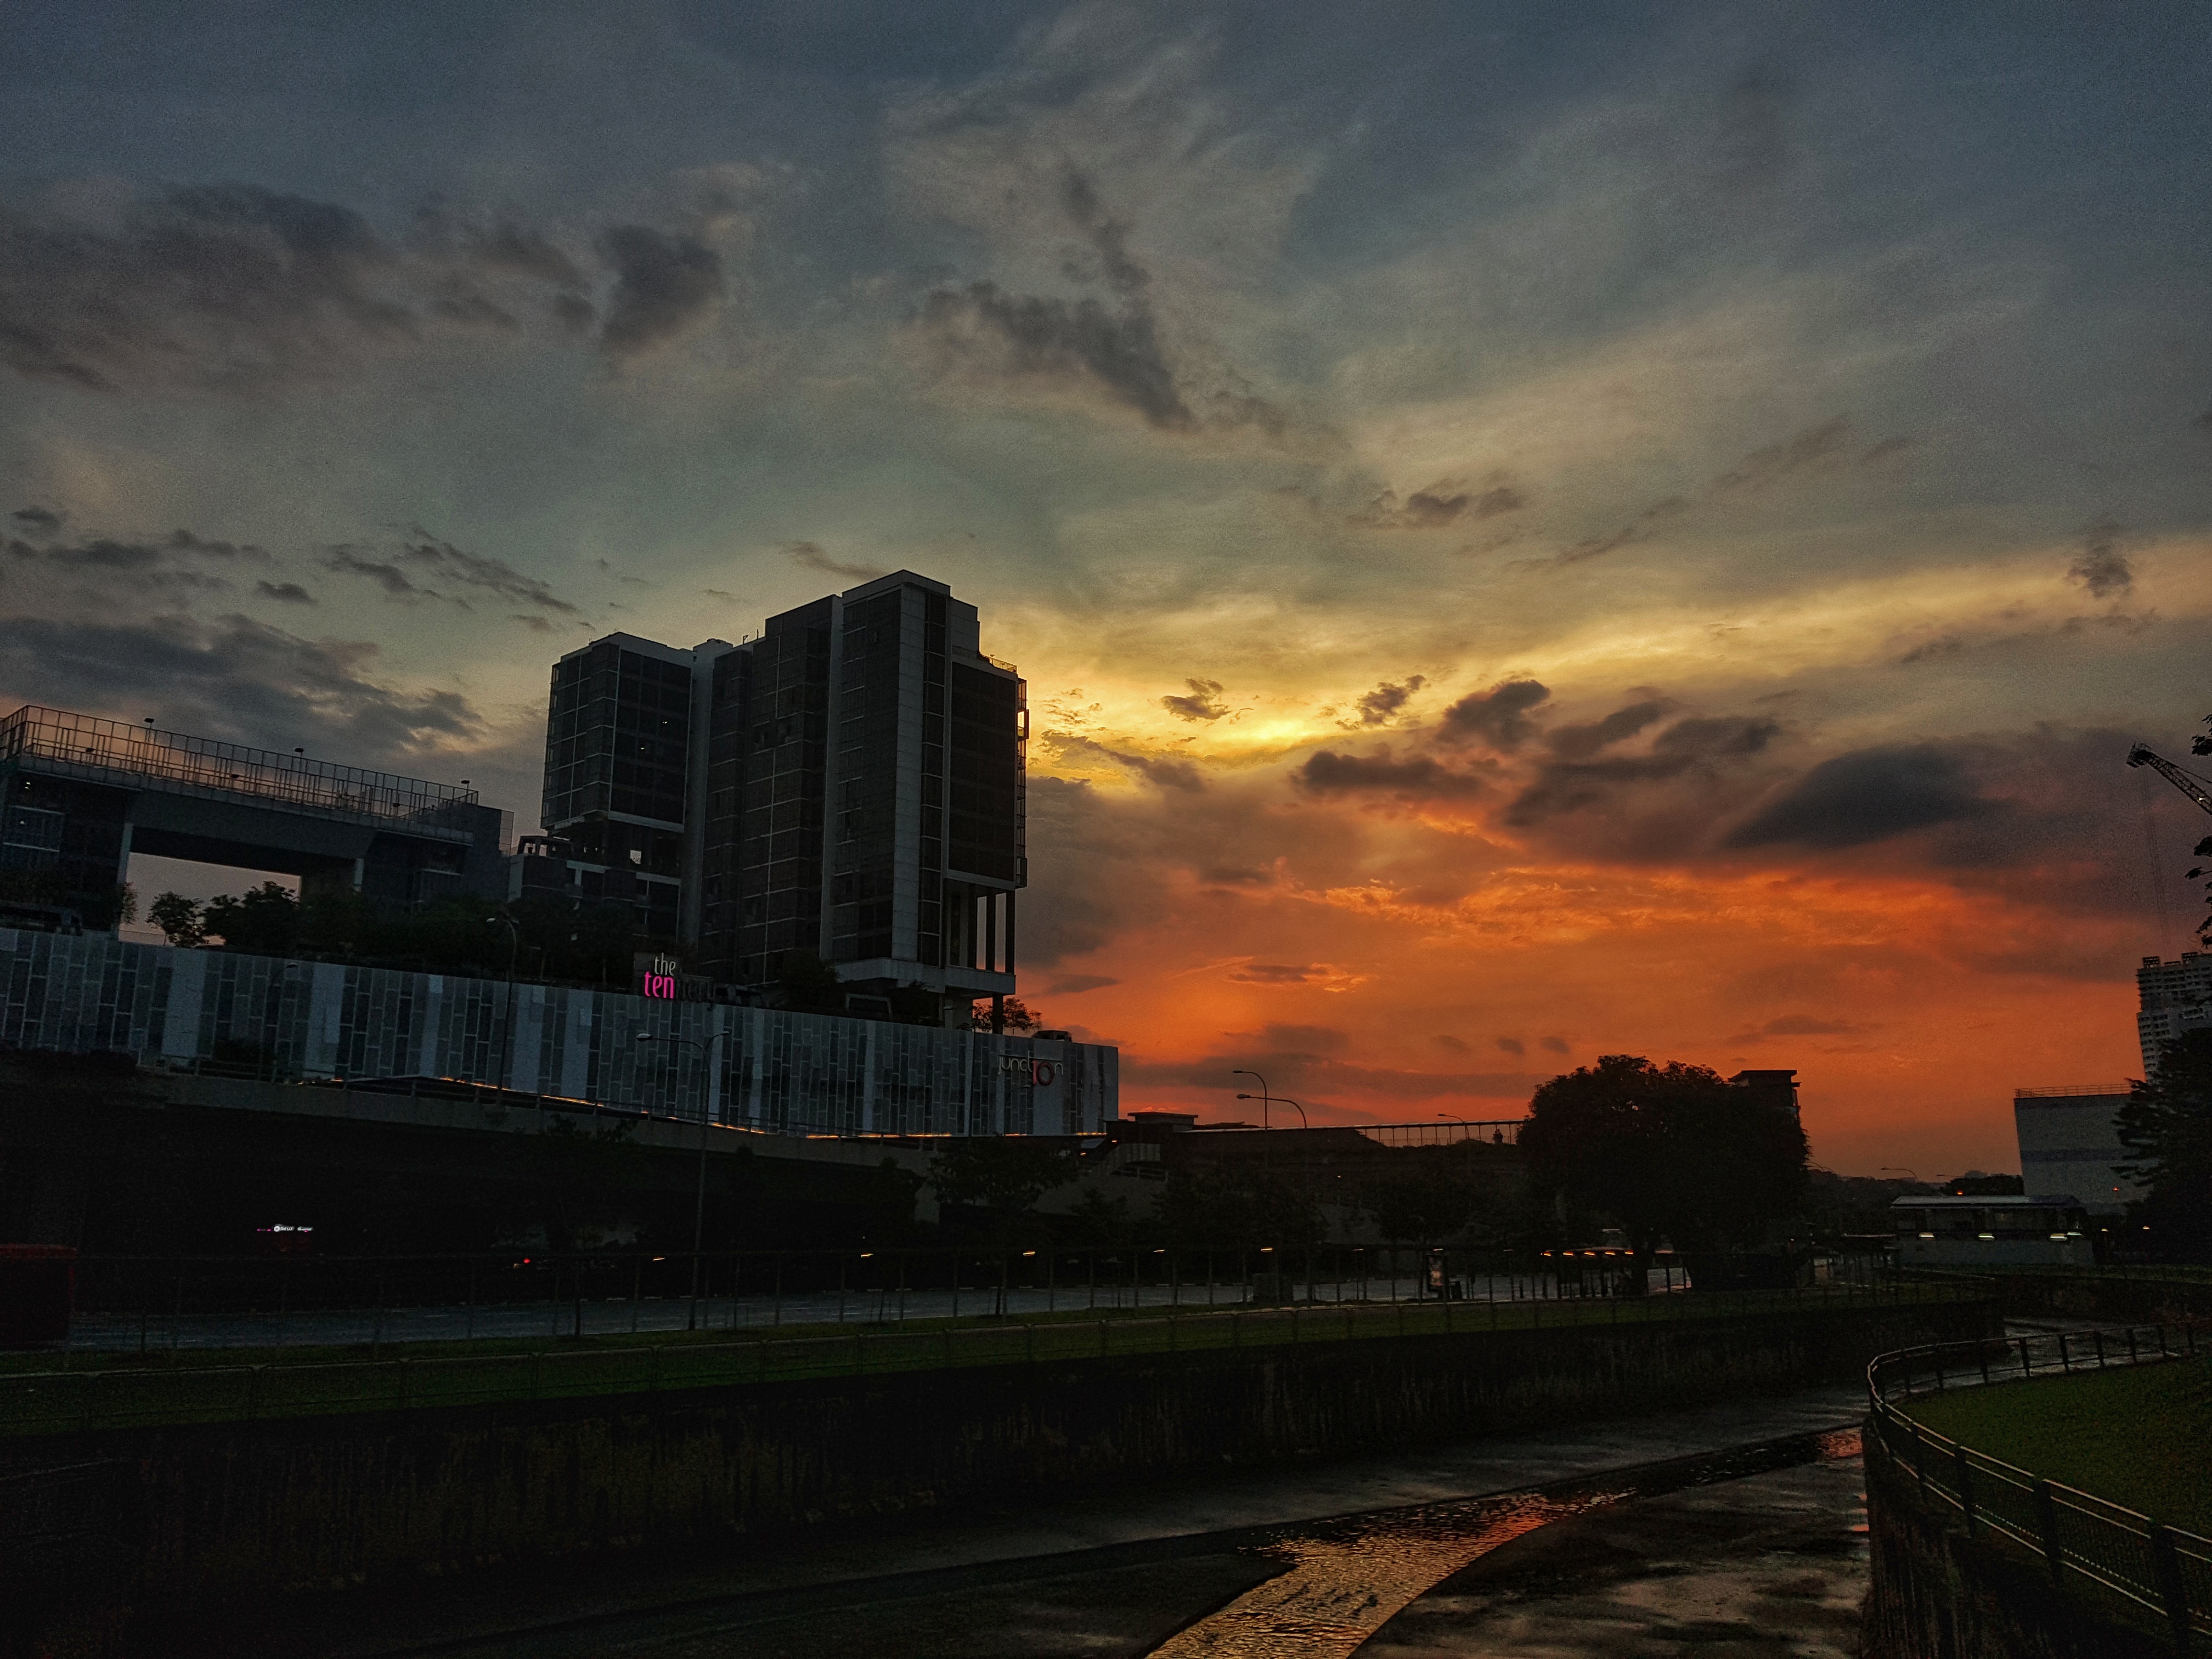
<path fill-rule="evenodd" d="M 1599 1055 L 1542 1084 L 1520 1146 L 1542 1190 L 1610 1219 L 1639 1263 L 1659 1239 L 1679 1250 L 1756 1243 L 1796 1208 L 1809 1152 L 1790 1113 L 1705 1066 L 1644 1055 Z"/>

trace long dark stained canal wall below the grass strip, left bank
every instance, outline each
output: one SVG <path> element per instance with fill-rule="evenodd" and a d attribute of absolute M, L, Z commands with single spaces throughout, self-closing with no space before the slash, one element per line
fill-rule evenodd
<path fill-rule="evenodd" d="M 15 1440 L 0 1491 L 46 1542 L 11 1546 L 0 1522 L 0 1597 L 215 1617 L 274 1593 L 1703 1405 L 1995 1329 L 1993 1303 L 1812 1310 Z"/>

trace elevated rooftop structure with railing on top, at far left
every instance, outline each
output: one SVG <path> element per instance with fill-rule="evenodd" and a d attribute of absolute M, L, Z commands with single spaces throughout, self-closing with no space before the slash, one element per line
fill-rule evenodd
<path fill-rule="evenodd" d="M 27 706 L 0 721 L 0 867 L 111 927 L 133 852 L 352 887 L 495 894 L 504 814 L 469 787 Z"/>

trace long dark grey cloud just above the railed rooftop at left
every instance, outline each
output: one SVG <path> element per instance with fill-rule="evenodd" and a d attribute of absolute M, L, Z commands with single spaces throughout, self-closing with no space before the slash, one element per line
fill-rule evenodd
<path fill-rule="evenodd" d="M 403 692 L 369 675 L 376 646 L 301 639 L 250 617 L 199 624 L 0 619 L 0 684 L 86 710 L 157 710 L 164 726 L 261 748 L 321 743 L 392 765 L 484 726 L 458 692 Z"/>

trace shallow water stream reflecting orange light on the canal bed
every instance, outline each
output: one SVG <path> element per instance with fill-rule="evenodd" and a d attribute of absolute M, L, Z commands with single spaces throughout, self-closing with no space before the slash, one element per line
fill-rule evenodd
<path fill-rule="evenodd" d="M 1279 1577 L 1186 1626 L 1152 1659 L 1338 1659 L 1418 1595 L 1537 1526 L 1635 1498 L 1659 1498 L 1860 1453 L 1858 1429 L 1621 1469 L 1528 1493 L 1285 1526 L 1256 1544 Z"/>

